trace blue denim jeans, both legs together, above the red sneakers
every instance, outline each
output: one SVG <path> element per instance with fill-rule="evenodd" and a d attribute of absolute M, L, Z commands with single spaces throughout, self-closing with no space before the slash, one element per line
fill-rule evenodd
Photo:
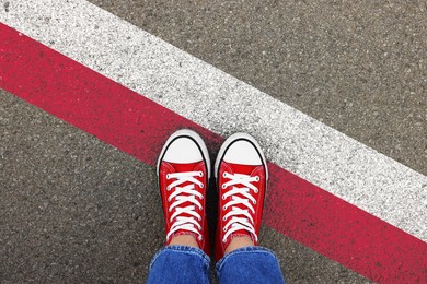
<path fill-rule="evenodd" d="M 224 256 L 216 265 L 219 283 L 285 283 L 273 251 L 245 247 Z M 168 246 L 153 258 L 148 283 L 210 283 L 210 259 L 198 248 Z"/>

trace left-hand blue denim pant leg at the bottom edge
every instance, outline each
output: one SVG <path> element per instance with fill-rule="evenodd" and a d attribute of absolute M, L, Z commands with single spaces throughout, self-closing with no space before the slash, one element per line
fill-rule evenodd
<path fill-rule="evenodd" d="M 209 263 L 201 249 L 166 246 L 151 261 L 147 283 L 210 283 Z"/>

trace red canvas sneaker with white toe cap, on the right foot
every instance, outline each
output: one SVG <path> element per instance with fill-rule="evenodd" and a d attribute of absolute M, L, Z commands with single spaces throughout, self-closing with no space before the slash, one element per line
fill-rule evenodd
<path fill-rule="evenodd" d="M 216 258 L 221 259 L 235 236 L 258 242 L 268 171 L 263 151 L 246 133 L 231 135 L 215 163 L 219 191 Z"/>

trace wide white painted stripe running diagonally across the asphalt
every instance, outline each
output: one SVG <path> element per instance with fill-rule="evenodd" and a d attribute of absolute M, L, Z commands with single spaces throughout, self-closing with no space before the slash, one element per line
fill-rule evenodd
<path fill-rule="evenodd" d="M 219 134 L 252 133 L 272 162 L 427 240 L 426 176 L 160 38 L 84 0 L 11 1 L 0 21 Z"/>

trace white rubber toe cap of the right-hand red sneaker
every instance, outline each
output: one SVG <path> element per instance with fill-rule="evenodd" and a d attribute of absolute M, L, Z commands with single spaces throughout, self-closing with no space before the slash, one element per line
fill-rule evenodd
<path fill-rule="evenodd" d="M 263 162 L 255 146 L 246 140 L 233 142 L 226 152 L 223 161 L 240 165 L 262 165 Z"/>

